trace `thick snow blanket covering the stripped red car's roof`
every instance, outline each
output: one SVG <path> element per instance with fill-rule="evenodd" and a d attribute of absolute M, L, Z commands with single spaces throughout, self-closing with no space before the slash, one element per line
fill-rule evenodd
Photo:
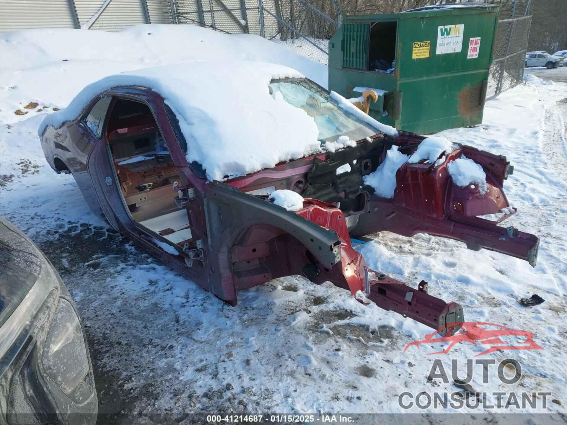
<path fill-rule="evenodd" d="M 319 130 L 303 109 L 269 94 L 272 79 L 303 78 L 289 67 L 263 62 L 193 62 L 128 71 L 89 84 L 39 128 L 60 128 L 90 101 L 113 87 L 139 86 L 159 93 L 187 139 L 187 160 L 208 180 L 241 176 L 321 151 Z"/>

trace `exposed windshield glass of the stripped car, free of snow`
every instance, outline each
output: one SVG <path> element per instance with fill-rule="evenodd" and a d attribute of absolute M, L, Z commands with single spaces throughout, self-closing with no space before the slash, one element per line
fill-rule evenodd
<path fill-rule="evenodd" d="M 274 99 L 283 98 L 314 118 L 321 142 L 334 142 L 342 135 L 360 140 L 376 134 L 376 129 L 339 108 L 328 92 L 315 83 L 303 79 L 273 80 L 269 88 Z"/>

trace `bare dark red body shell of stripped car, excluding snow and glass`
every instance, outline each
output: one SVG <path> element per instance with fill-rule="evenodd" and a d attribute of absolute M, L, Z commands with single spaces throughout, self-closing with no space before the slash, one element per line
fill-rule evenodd
<path fill-rule="evenodd" d="M 98 137 L 83 120 L 103 98 L 131 99 L 147 105 L 163 135 L 179 181 L 171 188 L 175 202 L 187 210 L 192 238 L 178 254 L 156 246 L 171 244 L 132 218 L 121 193 L 120 179 L 109 158 L 108 133 L 103 123 Z M 494 250 L 535 266 L 538 237 L 498 224 L 515 210 L 502 190 L 513 167 L 505 156 L 471 146 L 459 146 L 434 163 L 405 163 L 396 173 L 392 199 L 374 194 L 363 176 L 375 171 L 390 147 L 412 154 L 424 137 L 400 132 L 378 133 L 356 146 L 281 163 L 247 176 L 207 181 L 202 169 L 185 157 L 188 142 L 164 99 L 151 88 L 115 87 L 100 93 L 73 121 L 61 128 L 48 126 L 40 134 L 48 163 L 57 172 L 72 173 L 92 211 L 113 228 L 222 300 L 236 304 L 240 290 L 278 277 L 303 275 L 316 284 L 332 282 L 356 299 L 411 317 L 433 329 L 464 321 L 458 303 L 428 294 L 428 283 L 410 287 L 381 271 L 371 270 L 350 237 L 390 231 L 416 233 L 463 241 L 469 249 Z M 488 192 L 473 185 L 459 188 L 447 163 L 466 155 L 486 173 Z M 441 155 L 439 155 L 441 157 Z M 349 164 L 350 171 L 337 175 Z M 303 208 L 287 211 L 257 195 L 265 188 L 289 189 L 304 197 Z M 496 221 L 479 218 L 508 213 Z M 179 248 L 179 245 L 177 245 Z"/>

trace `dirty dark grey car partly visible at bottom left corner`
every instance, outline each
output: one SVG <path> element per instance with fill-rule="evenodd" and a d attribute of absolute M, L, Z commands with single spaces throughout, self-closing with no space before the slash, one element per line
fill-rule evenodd
<path fill-rule="evenodd" d="M 77 307 L 36 245 L 0 217 L 0 423 L 96 423 Z"/>

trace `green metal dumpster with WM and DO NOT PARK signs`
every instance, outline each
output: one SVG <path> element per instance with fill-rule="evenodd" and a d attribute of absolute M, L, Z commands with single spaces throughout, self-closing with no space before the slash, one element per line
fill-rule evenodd
<path fill-rule="evenodd" d="M 480 124 L 499 6 L 347 16 L 329 41 L 329 90 L 378 101 L 369 114 L 418 134 Z"/>

